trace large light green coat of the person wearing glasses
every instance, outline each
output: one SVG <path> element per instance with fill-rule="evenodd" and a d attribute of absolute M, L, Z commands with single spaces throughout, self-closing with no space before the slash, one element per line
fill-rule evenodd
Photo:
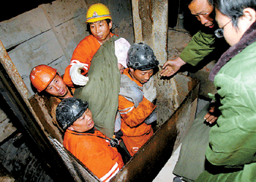
<path fill-rule="evenodd" d="M 206 159 L 216 169 L 203 172 L 196 181 L 256 181 L 255 50 L 256 42 L 231 58 L 214 78 L 222 115 L 209 133 Z"/>

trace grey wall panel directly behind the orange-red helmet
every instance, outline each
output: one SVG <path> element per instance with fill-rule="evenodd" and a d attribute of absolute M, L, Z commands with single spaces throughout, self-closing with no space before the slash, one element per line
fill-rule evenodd
<path fill-rule="evenodd" d="M 34 94 L 29 80 L 33 67 L 39 64 L 48 64 L 58 69 L 60 74 L 63 74 L 69 64 L 52 30 L 45 31 L 21 43 L 12 49 L 9 55 L 20 76 L 26 80 L 29 97 Z"/>

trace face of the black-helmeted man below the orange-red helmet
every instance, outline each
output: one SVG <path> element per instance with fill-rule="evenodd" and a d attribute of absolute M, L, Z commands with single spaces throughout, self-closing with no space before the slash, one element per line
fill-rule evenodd
<path fill-rule="evenodd" d="M 77 132 L 87 132 L 94 127 L 94 121 L 92 119 L 91 110 L 87 110 L 80 116 L 68 129 L 75 130 Z"/>

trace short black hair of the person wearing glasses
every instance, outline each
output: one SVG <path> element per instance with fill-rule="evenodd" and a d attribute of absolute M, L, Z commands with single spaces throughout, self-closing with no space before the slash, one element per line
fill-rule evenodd
<path fill-rule="evenodd" d="M 256 11 L 255 0 L 214 0 L 214 6 L 223 15 L 231 18 L 234 26 L 238 26 L 238 18 L 244 15 L 244 9 L 249 7 Z"/>

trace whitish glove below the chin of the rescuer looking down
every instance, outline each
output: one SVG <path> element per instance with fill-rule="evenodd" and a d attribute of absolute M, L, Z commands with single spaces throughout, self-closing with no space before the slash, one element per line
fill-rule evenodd
<path fill-rule="evenodd" d="M 157 98 L 157 88 L 154 86 L 154 78 L 151 77 L 147 83 L 143 84 L 144 97 L 153 102 Z"/>

